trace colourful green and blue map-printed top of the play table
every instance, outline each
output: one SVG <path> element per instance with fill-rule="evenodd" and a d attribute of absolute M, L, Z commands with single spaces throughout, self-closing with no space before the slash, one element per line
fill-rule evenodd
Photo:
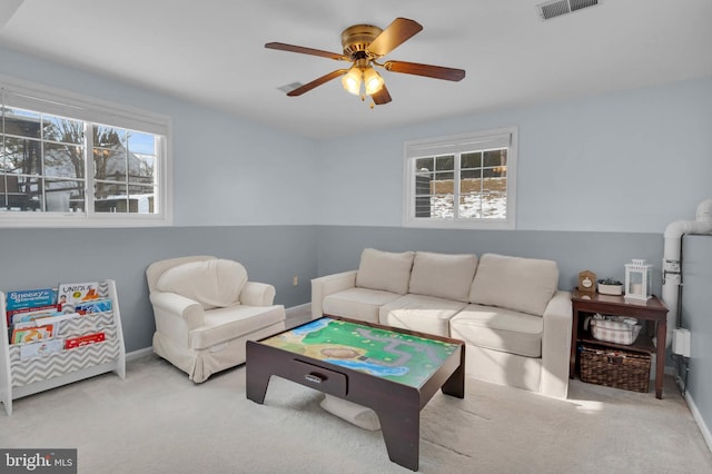
<path fill-rule="evenodd" d="M 323 317 L 261 344 L 421 387 L 459 345 Z"/>

